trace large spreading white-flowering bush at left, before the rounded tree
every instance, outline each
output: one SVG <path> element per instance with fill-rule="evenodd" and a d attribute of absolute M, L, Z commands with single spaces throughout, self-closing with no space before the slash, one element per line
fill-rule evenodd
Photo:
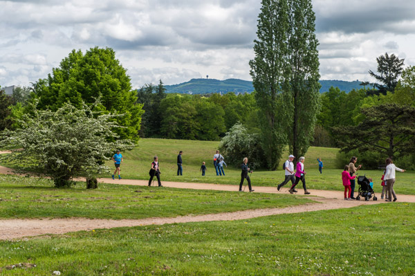
<path fill-rule="evenodd" d="M 0 148 L 12 151 L 0 160 L 50 176 L 56 187 L 71 185 L 75 177 L 109 172 L 104 160 L 116 149 L 133 149 L 134 143 L 118 140 L 114 132 L 120 127 L 115 119 L 122 115 L 102 114 L 99 106 L 64 104 L 56 112 L 34 108 L 19 122 L 21 129 L 0 134 Z"/>

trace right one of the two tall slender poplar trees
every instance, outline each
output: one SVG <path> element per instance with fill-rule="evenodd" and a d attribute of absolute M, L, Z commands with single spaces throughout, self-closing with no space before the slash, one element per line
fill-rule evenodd
<path fill-rule="evenodd" d="M 310 147 L 320 109 L 320 62 L 311 0 L 288 0 L 288 8 L 290 85 L 284 86 L 283 98 L 291 111 L 288 145 L 294 156 L 299 158 Z"/>

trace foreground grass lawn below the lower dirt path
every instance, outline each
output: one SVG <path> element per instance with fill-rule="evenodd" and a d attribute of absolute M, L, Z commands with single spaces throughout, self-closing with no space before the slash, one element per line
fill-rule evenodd
<path fill-rule="evenodd" d="M 1 275 L 414 275 L 414 216 L 393 203 L 0 241 Z M 36 267 L 4 268 L 19 263 Z"/>

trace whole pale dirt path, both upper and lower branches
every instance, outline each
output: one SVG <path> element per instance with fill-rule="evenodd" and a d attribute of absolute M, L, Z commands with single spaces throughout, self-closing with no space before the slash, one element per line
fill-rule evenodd
<path fill-rule="evenodd" d="M 1 151 L 0 151 L 1 154 Z M 0 174 L 13 174 L 11 169 L 0 166 Z M 100 178 L 100 183 L 113 183 L 121 185 L 147 185 L 147 181 L 140 180 L 113 180 L 111 178 Z M 237 191 L 236 185 L 216 185 L 208 183 L 181 183 L 163 181 L 165 187 L 176 187 L 182 189 L 196 190 L 222 190 Z M 255 187 L 255 192 L 282 193 L 288 194 L 287 189 L 277 192 L 275 187 Z M 196 221 L 232 221 L 239 219 L 252 219 L 274 214 L 292 214 L 297 212 L 313 212 L 318 210 L 333 210 L 340 208 L 352 208 L 358 205 L 371 205 L 385 203 L 385 201 L 344 201 L 341 191 L 310 190 L 311 196 L 308 197 L 317 201 L 306 205 L 291 206 L 287 208 L 270 208 L 260 210 L 246 210 L 239 212 L 228 212 L 221 214 L 202 214 L 187 215 L 174 218 L 149 218 L 149 219 L 3 219 L 0 220 L 0 240 L 17 239 L 21 237 L 36 236 L 40 234 L 64 234 L 80 230 L 93 230 L 99 228 L 116 228 L 131 226 L 146 226 L 151 224 L 162 225 L 166 223 L 186 223 Z M 299 190 L 299 194 L 302 190 Z M 398 195 L 400 202 L 415 203 L 415 196 Z"/>

